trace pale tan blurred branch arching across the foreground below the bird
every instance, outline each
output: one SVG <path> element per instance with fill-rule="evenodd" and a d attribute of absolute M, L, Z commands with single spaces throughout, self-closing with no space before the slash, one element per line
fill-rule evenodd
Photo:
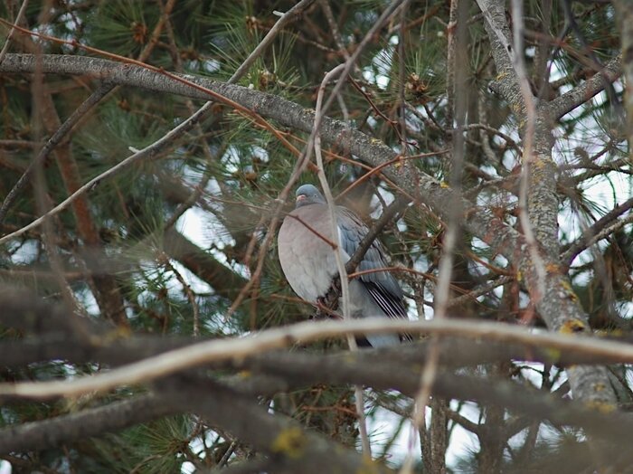
<path fill-rule="evenodd" d="M 293 343 L 307 343 L 324 337 L 341 337 L 347 334 L 378 334 L 386 331 L 487 337 L 490 340 L 541 345 L 561 351 L 583 351 L 586 354 L 609 356 L 622 362 L 633 363 L 633 346 L 598 337 L 534 334 L 524 327 L 482 321 L 364 318 L 349 321 L 307 321 L 289 327 L 268 329 L 255 336 L 202 342 L 124 365 L 109 372 L 71 381 L 0 384 L 0 395 L 34 400 L 55 396 L 78 396 L 82 393 L 109 390 L 124 384 L 142 384 L 198 365 L 252 356 Z M 577 370 L 578 367 L 574 369 Z"/>

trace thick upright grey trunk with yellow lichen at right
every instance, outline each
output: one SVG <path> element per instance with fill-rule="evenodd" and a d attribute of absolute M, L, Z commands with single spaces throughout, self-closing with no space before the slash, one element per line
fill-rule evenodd
<path fill-rule="evenodd" d="M 520 67 L 522 61 L 517 61 L 523 60 L 524 54 L 520 41 L 523 37 L 522 4 L 517 1 L 513 3 L 517 41 L 512 46 L 506 34 L 505 2 L 477 0 L 477 3 L 487 18 L 488 40 L 493 48 L 497 78 L 504 86 L 501 91 L 510 102 L 516 120 L 524 124 L 520 130 L 525 140 L 522 188 L 527 191 L 529 222 L 528 219 L 522 219 L 526 238 L 521 251 L 516 253 L 516 258 L 510 260 L 515 261 L 520 277 L 524 270 L 529 272 L 524 283 L 547 327 L 553 330 L 578 327 L 581 331 L 586 331 L 587 315 L 573 293 L 559 255 L 556 165 L 552 158 L 552 110 L 546 103 L 538 106 L 534 103 L 534 96 L 527 87 L 525 73 Z M 513 58 L 514 73 L 507 71 L 505 56 Z M 519 88 L 523 97 L 515 98 L 513 93 Z M 525 194 L 521 195 L 523 197 Z M 535 240 L 530 237 L 533 229 Z M 574 397 L 606 406 L 615 404 L 616 396 L 604 367 L 579 365 L 570 367 L 567 374 Z"/>

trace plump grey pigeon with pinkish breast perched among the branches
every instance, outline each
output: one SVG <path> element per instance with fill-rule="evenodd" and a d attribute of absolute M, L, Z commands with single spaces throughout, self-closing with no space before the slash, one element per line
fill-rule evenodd
<path fill-rule="evenodd" d="M 332 224 L 323 194 L 314 185 L 300 185 L 295 194 L 295 209 L 279 228 L 278 252 L 281 270 L 295 293 L 311 303 L 326 295 L 338 275 L 331 242 Z M 369 232 L 351 210 L 335 206 L 340 252 L 346 263 Z M 360 271 L 387 267 L 386 251 L 374 240 L 358 265 Z M 407 318 L 402 289 L 387 271 L 365 273 L 349 281 L 350 314 L 353 318 Z M 395 333 L 366 335 L 373 347 L 393 346 L 408 336 Z M 366 345 L 366 344 L 365 344 Z"/>

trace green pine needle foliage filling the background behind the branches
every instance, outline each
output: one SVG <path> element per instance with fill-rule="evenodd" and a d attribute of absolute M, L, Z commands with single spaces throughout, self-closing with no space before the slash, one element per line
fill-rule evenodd
<path fill-rule="evenodd" d="M 525 58 L 534 90 L 541 87 L 536 52 L 539 35 L 547 36 L 555 44 L 550 44 L 547 50 L 551 62 L 550 83 L 543 88 L 545 98 L 582 84 L 600 69 L 600 64 L 619 54 L 613 7 L 604 2 L 569 3 L 578 29 L 569 26 L 569 19 L 558 5 L 553 7 L 545 25 L 543 2 L 524 3 L 528 29 Z M 17 12 L 14 4 L 0 5 L 0 17 L 14 18 Z M 294 4 L 277 0 L 179 0 L 173 3 L 165 22 L 166 5 L 172 2 L 32 1 L 24 19 L 25 27 L 77 43 L 60 44 L 18 35 L 9 51 L 33 52 L 40 48 L 44 53 L 99 57 L 98 52 L 81 49 L 78 44 L 82 44 L 129 60 L 144 58 L 146 63 L 165 71 L 228 81 L 278 20 L 273 12 L 285 12 Z M 377 0 L 329 4 L 343 47 L 349 54 L 387 5 Z M 346 84 L 340 94 L 345 106 L 335 100 L 327 112 L 329 117 L 346 120 L 373 140 L 402 153 L 420 172 L 444 182 L 449 181 L 446 155 L 417 155 L 443 152 L 452 143 L 453 124 L 447 123 L 452 117 L 452 110 L 447 108 L 449 4 L 439 0 L 411 2 L 403 18 L 406 28 L 402 29 L 402 37 L 400 18 L 394 17 L 361 54 L 358 69 L 351 74 L 354 85 Z M 516 177 L 521 160 L 515 144 L 521 144 L 518 130 L 523 125 L 517 123 L 515 111 L 494 89 L 498 78 L 476 2 L 469 3 L 468 12 L 469 43 L 465 54 L 468 61 L 458 64 L 468 78 L 465 193 L 482 209 L 520 229 Z M 556 40 L 561 32 L 565 34 Z M 5 33 L 2 30 L 0 46 L 5 42 Z M 404 44 L 403 57 L 400 42 Z M 304 17 L 279 33 L 236 83 L 314 109 L 324 74 L 343 61 L 345 57 L 335 43 L 332 27 L 316 2 Z M 31 76 L 0 75 L 0 196 L 4 198 L 10 192 L 45 140 L 54 133 L 56 126 L 51 115 L 56 114 L 61 122 L 68 119 L 95 88 L 94 81 L 80 76 L 45 75 L 43 90 L 38 90 L 36 79 Z M 628 147 L 623 112 L 621 105 L 618 107 L 622 103 L 622 89 L 619 81 L 611 88 L 610 95 L 600 93 L 553 125 L 556 137 L 553 158 L 560 166 L 561 176 L 557 190 L 561 206 L 559 221 L 569 222 L 561 229 L 563 251 L 575 242 L 584 227 L 595 223 L 630 194 L 626 187 L 630 186 Z M 54 109 L 42 117 L 34 116 L 35 110 L 42 113 L 44 107 L 43 103 L 35 102 L 41 97 L 38 94 L 48 94 Z M 402 95 L 406 101 L 404 108 Z M 135 150 L 165 136 L 201 105 L 201 100 L 166 93 L 122 87 L 111 90 L 80 120 L 64 143 L 68 146 L 64 148 L 66 151 L 59 148 L 43 163 L 45 199 L 49 204 L 59 204 L 76 188 L 69 182 L 68 169 L 61 166 L 64 160 L 71 163 L 71 177 L 78 181 L 76 184 L 83 185 Z M 407 125 L 405 147 L 402 147 L 402 114 Z M 270 123 L 294 147 L 304 149 L 307 133 L 274 120 Z M 485 127 L 479 127 L 482 125 Z M 380 213 L 380 199 L 391 200 L 396 192 L 392 185 L 378 175 L 368 177 L 369 166 L 359 163 L 358 157 L 344 145 L 328 145 L 325 151 L 326 176 L 335 194 L 343 193 L 359 179 L 364 180 L 341 204 L 354 206 L 368 221 Z M 106 320 L 103 308 L 99 308 L 99 284 L 90 280 L 93 272 L 107 274 L 118 289 L 128 318 L 128 327 L 119 328 L 124 337 L 194 337 L 194 332 L 198 338 L 241 337 L 252 331 L 306 320 L 314 308 L 298 301 L 289 288 L 279 268 L 274 239 L 268 249 L 261 248 L 269 232 L 275 199 L 288 182 L 297 160 L 298 156 L 278 137 L 251 117 L 216 104 L 210 114 L 171 147 L 129 166 L 85 194 L 87 218 L 71 206 L 51 220 L 52 240 L 43 227 L 38 227 L 2 247 L 0 281 L 27 288 L 47 301 L 64 302 L 61 277 L 86 318 L 112 325 L 112 321 Z M 590 170 L 596 171 L 595 178 L 581 175 Z M 312 171 L 304 173 L 299 181 L 317 183 Z M 597 181 L 609 190 L 608 196 L 597 198 L 591 193 Z M 196 190 L 199 194 L 188 202 Z M 22 228 L 41 214 L 35 195 L 31 185 L 18 195 L 0 227 L 2 235 Z M 184 218 L 173 222 L 172 218 L 184 206 L 190 210 Z M 286 210 L 289 208 L 288 205 Z M 93 226 L 97 242 L 90 242 L 86 236 L 88 225 L 84 218 Z M 433 210 L 415 205 L 383 232 L 383 243 L 393 256 L 393 264 L 415 270 L 399 274 L 412 316 L 424 318 L 432 314 L 430 300 L 437 282 L 445 224 Z M 193 241 L 204 257 L 196 254 L 195 258 L 187 258 L 190 256 L 178 253 L 165 237 L 170 230 Z M 630 244 L 630 228 L 624 227 L 609 241 L 600 243 L 599 256 L 587 252 L 570 270 L 572 288 L 596 329 L 627 332 L 630 329 L 633 298 Z M 90 255 L 96 261 L 90 261 Z M 59 268 L 52 261 L 55 258 L 59 260 Z M 244 295 L 238 308 L 231 308 L 243 284 L 255 273 L 260 258 L 264 264 L 258 285 Z M 199 265 L 194 265 L 192 259 Z M 602 261 L 600 268 L 596 261 Z M 216 273 L 230 274 L 231 279 L 213 280 Z M 461 232 L 451 295 L 458 298 L 505 276 L 514 279 L 516 269 L 508 265 L 498 250 L 466 231 Z M 525 303 L 523 283 L 513 279 L 462 302 L 455 311 L 468 318 L 518 321 L 543 327 L 542 316 Z M 610 285 L 612 291 L 605 292 L 605 285 Z M 232 314 L 230 308 L 234 310 Z M 20 330 L 0 326 L 0 342 L 26 341 L 28 337 Z M 343 347 L 341 341 L 328 340 L 293 350 L 326 354 Z M 109 368 L 63 360 L 19 368 L 0 366 L 0 382 L 68 378 Z M 487 377 L 491 384 L 504 380 L 532 386 L 534 374 L 531 378 L 516 368 L 505 368 L 505 365 L 499 370 L 480 367 L 468 374 Z M 619 378 L 628 380 L 628 367 L 619 368 Z M 456 372 L 459 370 L 466 372 L 470 368 Z M 217 371 L 213 375 L 228 378 L 232 374 Z M 543 370 L 538 378 L 543 386 L 550 384 L 552 388 L 553 375 Z M 624 392 L 627 391 L 630 392 L 628 387 Z M 135 394 L 136 390 L 119 389 L 94 395 L 89 401 L 12 402 L 0 406 L 0 427 L 42 421 Z M 308 430 L 345 447 L 359 444 L 354 394 L 348 385 L 311 386 L 262 396 L 259 402 L 267 403 L 269 412 L 286 414 Z M 367 405 L 370 422 L 381 422 L 385 411 L 399 415 L 392 429 L 373 433 L 373 447 L 374 457 L 392 468 L 400 467 L 404 449 L 396 439 L 409 431 L 406 417 L 402 416 L 402 412 L 411 408 L 409 399 L 392 391 L 376 391 L 372 403 Z M 461 409 L 462 404 L 454 412 Z M 479 407 L 473 410 L 479 416 L 474 423 L 484 426 L 486 410 Z M 501 408 L 501 422 L 510 416 L 514 413 Z M 456 431 L 458 424 L 458 420 L 451 420 L 448 429 Z M 552 466 L 564 468 L 570 458 L 574 462 L 569 466 L 577 469 L 589 458 L 581 432 L 546 426 L 532 445 L 524 441 L 527 436 L 517 436 L 519 441 L 515 438 L 514 444 L 504 446 L 496 463 L 498 471 L 520 472 L 522 467 L 529 466 L 534 472 L 544 472 Z M 526 435 L 526 431 L 521 432 Z M 484 438 L 478 440 L 482 443 Z M 476 472 L 490 462 L 482 460 L 487 453 L 481 446 L 471 448 L 472 452 L 458 457 L 450 466 L 451 472 Z M 226 453 L 229 455 L 225 456 Z M 256 454 L 250 446 L 234 440 L 231 433 L 185 413 L 69 442 L 61 448 L 14 453 L 10 461 L 15 472 L 152 473 L 220 469 L 251 460 Z M 572 468 L 562 468 L 561 472 L 572 472 Z M 422 467 L 418 469 L 421 472 Z"/>

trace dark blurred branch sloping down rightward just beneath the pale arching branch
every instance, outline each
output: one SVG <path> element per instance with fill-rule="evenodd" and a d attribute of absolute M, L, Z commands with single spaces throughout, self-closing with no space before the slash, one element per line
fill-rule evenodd
<path fill-rule="evenodd" d="M 415 395 L 420 383 L 418 365 L 399 365 L 394 371 L 391 361 L 363 360 L 363 351 L 358 355 L 310 356 L 305 354 L 270 354 L 257 358 L 247 358 L 237 366 L 248 367 L 258 373 L 268 373 L 284 377 L 291 386 L 294 384 L 368 384 L 374 389 L 396 389 L 409 396 Z M 294 357 L 294 360 L 288 360 Z M 284 360 L 286 362 L 284 362 Z M 487 405 L 504 406 L 509 410 L 536 419 L 548 419 L 553 423 L 582 426 L 594 430 L 600 436 L 610 438 L 633 429 L 633 418 L 622 413 L 605 415 L 603 412 L 587 409 L 582 403 L 566 403 L 549 393 L 530 389 L 511 382 L 472 375 L 455 375 L 440 372 L 433 387 L 433 393 L 446 399 L 475 400 Z M 609 422 L 618 427 L 609 427 Z M 607 423 L 607 424 L 605 424 Z M 611 429 L 613 428 L 613 429 Z M 615 435 L 613 439 L 617 439 Z"/>

